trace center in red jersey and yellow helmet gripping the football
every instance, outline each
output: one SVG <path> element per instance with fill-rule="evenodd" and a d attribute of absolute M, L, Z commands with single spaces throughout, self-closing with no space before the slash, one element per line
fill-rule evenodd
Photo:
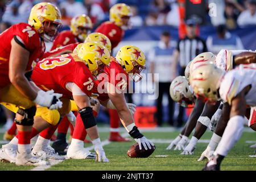
<path fill-rule="evenodd" d="M 140 72 L 145 69 L 145 62 L 144 53 L 138 47 L 121 47 L 117 56 L 112 57 L 109 67 L 104 68 L 105 73 L 98 76 L 98 87 L 97 90 L 93 90 L 93 93 L 100 95 L 98 100 L 101 105 L 108 109 L 117 110 L 127 132 L 138 142 L 140 149 L 143 145 L 147 150 L 147 148 L 154 146 L 154 143 L 144 137 L 135 126 L 133 119 L 135 105 L 126 103 L 124 95 L 128 88 L 129 76 L 134 81 L 141 80 Z M 68 158 L 85 159 L 86 150 L 83 142 L 85 135 L 81 119 L 77 118 L 71 145 L 67 152 Z"/>

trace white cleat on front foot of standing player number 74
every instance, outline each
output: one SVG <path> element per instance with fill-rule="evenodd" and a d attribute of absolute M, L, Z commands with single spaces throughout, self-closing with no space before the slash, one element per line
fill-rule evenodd
<path fill-rule="evenodd" d="M 49 164 L 46 160 L 37 159 L 31 155 L 31 151 L 19 153 L 17 151 L 17 156 L 15 160 L 17 166 L 46 166 Z"/>

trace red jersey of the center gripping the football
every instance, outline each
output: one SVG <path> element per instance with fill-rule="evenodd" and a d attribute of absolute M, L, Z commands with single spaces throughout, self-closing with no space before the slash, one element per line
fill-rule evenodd
<path fill-rule="evenodd" d="M 122 66 L 117 63 L 114 57 L 111 57 L 110 65 L 109 67 L 105 67 L 104 71 L 105 75 L 103 75 L 103 77 L 99 77 L 97 82 L 99 89 L 101 89 L 101 86 L 104 86 L 103 83 L 106 81 L 108 81 L 110 84 L 113 84 L 115 88 L 122 91 L 125 91 L 128 88 L 129 75 L 123 70 Z M 101 101 L 108 100 L 109 98 L 107 93 L 100 93 L 99 90 L 93 90 L 93 93 L 98 93 L 100 95 L 98 99 Z"/>

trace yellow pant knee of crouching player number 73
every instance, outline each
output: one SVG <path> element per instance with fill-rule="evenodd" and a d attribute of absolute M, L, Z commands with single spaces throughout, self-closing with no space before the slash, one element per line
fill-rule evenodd
<path fill-rule="evenodd" d="M 53 126 L 57 125 L 57 123 L 59 123 L 59 120 L 60 120 L 59 111 L 57 111 L 56 109 L 50 110 L 47 107 L 38 107 L 38 109 L 36 110 L 35 117 L 37 116 L 43 118 L 50 125 L 53 125 Z"/>

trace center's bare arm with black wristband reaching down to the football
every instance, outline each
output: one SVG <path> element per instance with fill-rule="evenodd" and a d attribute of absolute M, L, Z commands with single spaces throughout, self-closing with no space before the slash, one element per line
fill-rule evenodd
<path fill-rule="evenodd" d="M 142 149 L 142 144 L 146 150 L 147 148 L 151 149 L 151 146 L 154 146 L 154 143 L 144 137 L 139 132 L 137 126 L 135 126 L 133 115 L 130 113 L 125 101 L 125 95 L 119 92 L 111 92 L 110 90 L 115 90 L 115 86 L 108 83 L 109 98 L 115 106 L 119 118 L 121 119 L 122 125 L 125 127 L 126 131 L 139 144 L 140 150 Z"/>

